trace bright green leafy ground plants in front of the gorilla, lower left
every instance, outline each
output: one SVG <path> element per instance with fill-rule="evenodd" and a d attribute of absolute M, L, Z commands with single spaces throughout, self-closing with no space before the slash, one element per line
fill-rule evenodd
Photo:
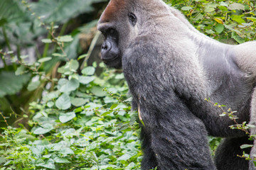
<path fill-rule="evenodd" d="M 5 167 L 139 167 L 142 156 L 139 125 L 137 113 L 130 112 L 129 100 L 125 101 L 127 85 L 124 81 L 114 85 L 105 79 L 112 77 L 112 81 L 119 81 L 123 75 L 106 70 L 104 77 L 95 77 L 95 67 L 85 67 L 80 76 L 74 61 L 60 67 L 63 77 L 56 81 L 54 91 L 44 89 L 42 100 L 30 104 L 31 130 L 4 128 L 1 155 L 9 160 L 4 162 Z M 102 83 L 107 87 L 105 91 Z"/>

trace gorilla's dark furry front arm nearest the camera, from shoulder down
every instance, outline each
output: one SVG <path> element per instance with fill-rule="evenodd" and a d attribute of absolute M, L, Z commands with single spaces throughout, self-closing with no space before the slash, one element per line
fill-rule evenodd
<path fill-rule="evenodd" d="M 122 65 L 145 125 L 142 169 L 156 166 L 154 159 L 159 169 L 215 169 L 203 122 L 189 111 L 171 84 L 172 67 L 164 61 L 168 53 L 143 37 L 134 42 L 124 53 Z"/>

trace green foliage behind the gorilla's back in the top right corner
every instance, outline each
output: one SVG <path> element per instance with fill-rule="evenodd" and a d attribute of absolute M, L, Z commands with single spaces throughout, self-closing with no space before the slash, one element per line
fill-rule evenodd
<path fill-rule="evenodd" d="M 166 1 L 210 37 L 231 44 L 255 40 L 255 1 Z M 233 40 L 233 41 L 230 41 Z"/>

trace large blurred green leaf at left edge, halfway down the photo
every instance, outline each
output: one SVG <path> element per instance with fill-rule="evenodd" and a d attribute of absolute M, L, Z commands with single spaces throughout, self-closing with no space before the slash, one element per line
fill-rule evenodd
<path fill-rule="evenodd" d="M 30 74 L 16 76 L 14 72 L 0 73 L 0 97 L 7 94 L 13 95 L 21 91 L 23 86 L 28 83 Z"/>

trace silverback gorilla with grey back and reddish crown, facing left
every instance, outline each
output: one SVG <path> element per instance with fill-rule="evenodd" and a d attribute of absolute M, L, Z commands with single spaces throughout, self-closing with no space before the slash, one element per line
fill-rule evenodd
<path fill-rule="evenodd" d="M 142 169 L 246 170 L 256 154 L 233 120 L 212 103 L 225 104 L 238 123 L 256 124 L 256 42 L 227 45 L 199 33 L 161 0 L 111 0 L 98 29 L 102 60 L 122 68 L 132 106 L 142 118 Z M 250 130 L 255 134 L 256 130 Z M 225 137 L 211 159 L 207 136 Z"/>

